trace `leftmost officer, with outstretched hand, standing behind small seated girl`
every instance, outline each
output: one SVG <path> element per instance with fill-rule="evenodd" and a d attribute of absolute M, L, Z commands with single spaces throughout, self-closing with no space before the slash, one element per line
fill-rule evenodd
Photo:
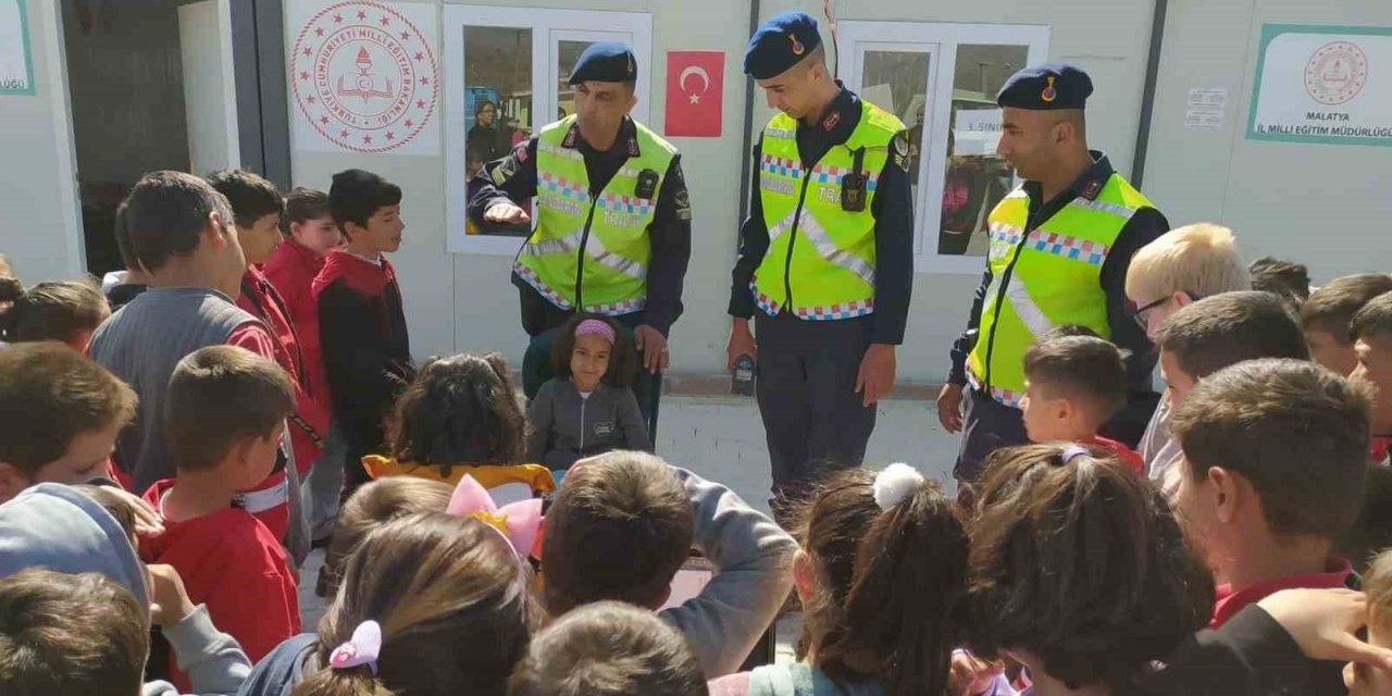
<path fill-rule="evenodd" d="M 690 259 L 690 198 L 681 155 L 629 113 L 638 63 L 618 43 L 594 43 L 575 64 L 575 114 L 544 128 L 469 182 L 476 224 L 522 224 L 536 196 L 536 230 L 512 267 L 528 398 L 551 377 L 555 329 L 575 312 L 611 316 L 633 331 L 644 367 L 633 384 L 644 416 L 667 367 L 667 335 L 682 313 Z"/>

